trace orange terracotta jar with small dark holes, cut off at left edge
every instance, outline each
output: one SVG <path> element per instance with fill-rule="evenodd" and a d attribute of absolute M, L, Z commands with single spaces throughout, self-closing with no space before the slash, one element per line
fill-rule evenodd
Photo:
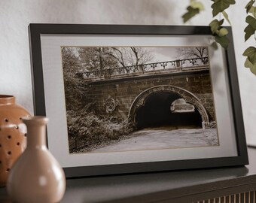
<path fill-rule="evenodd" d="M 5 186 L 11 166 L 26 148 L 26 126 L 21 117 L 29 117 L 15 103 L 13 95 L 0 95 L 0 186 Z"/>

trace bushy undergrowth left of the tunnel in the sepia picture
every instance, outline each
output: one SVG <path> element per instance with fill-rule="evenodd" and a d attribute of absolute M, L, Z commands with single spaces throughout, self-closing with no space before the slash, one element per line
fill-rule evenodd
<path fill-rule="evenodd" d="M 116 117 L 98 117 L 87 105 L 81 110 L 67 111 L 69 151 L 90 151 L 133 132 L 133 126 Z"/>

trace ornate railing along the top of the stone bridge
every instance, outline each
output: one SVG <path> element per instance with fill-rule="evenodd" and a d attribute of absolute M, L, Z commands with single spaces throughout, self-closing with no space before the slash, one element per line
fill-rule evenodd
<path fill-rule="evenodd" d="M 193 69 L 198 69 L 206 67 L 209 65 L 208 57 L 203 58 L 193 58 L 193 59 L 179 59 L 173 61 L 166 61 L 166 62 L 154 62 L 154 63 L 146 63 L 142 65 L 130 65 L 125 67 L 118 67 L 118 68 L 108 68 L 103 70 L 96 70 L 96 71 L 79 71 L 76 73 L 79 77 L 86 78 L 93 78 L 93 77 L 108 77 L 114 75 L 121 75 L 121 74 L 132 74 L 132 73 L 141 73 L 144 74 L 145 72 L 151 71 L 191 71 Z"/>

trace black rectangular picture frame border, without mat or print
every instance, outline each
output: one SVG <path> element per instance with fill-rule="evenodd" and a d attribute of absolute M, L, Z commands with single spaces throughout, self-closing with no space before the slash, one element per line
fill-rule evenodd
<path fill-rule="evenodd" d="M 236 59 L 233 47 L 233 36 L 230 27 L 227 38 L 230 44 L 224 50 L 227 65 L 227 80 L 230 90 L 230 105 L 233 114 L 233 126 L 236 138 L 237 156 L 206 158 L 206 159 L 181 159 L 159 162 L 130 162 L 109 165 L 74 166 L 63 169 L 66 177 L 94 176 L 105 174 L 126 174 L 149 171 L 168 171 L 192 168 L 215 168 L 224 166 L 237 166 L 248 164 L 248 154 L 245 141 L 245 130 L 242 119 L 242 107 L 239 94 L 239 83 L 236 72 Z M 30 24 L 29 45 L 32 69 L 32 89 L 34 101 L 34 114 L 47 116 L 44 66 L 41 50 L 42 35 L 139 35 L 139 36 L 187 36 L 187 35 L 212 35 L 209 26 L 139 26 L 139 25 L 81 25 L 81 24 Z M 222 49 L 219 47 L 219 49 Z M 53 135 L 47 135 L 53 136 Z"/>

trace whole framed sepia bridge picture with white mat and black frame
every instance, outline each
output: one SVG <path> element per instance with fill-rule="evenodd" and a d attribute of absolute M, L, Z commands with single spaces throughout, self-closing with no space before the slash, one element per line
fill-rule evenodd
<path fill-rule="evenodd" d="M 31 24 L 35 115 L 66 177 L 248 164 L 230 27 Z"/>

